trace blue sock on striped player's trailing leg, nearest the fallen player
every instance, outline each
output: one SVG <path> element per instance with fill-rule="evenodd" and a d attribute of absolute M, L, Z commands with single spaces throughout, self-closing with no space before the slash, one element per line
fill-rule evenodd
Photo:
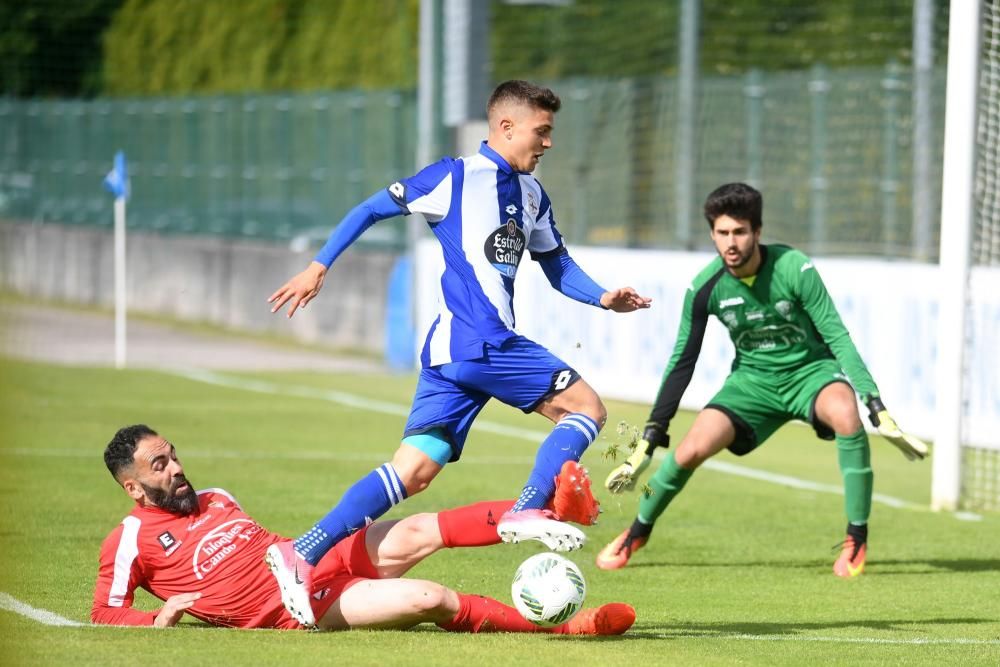
<path fill-rule="evenodd" d="M 310 565 L 316 565 L 337 542 L 405 499 L 406 487 L 392 464 L 385 463 L 355 482 L 329 514 L 295 540 L 295 551 Z"/>

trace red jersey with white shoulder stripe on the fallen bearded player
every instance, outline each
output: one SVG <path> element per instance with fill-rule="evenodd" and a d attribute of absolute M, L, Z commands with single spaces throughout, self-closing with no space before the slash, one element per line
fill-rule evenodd
<path fill-rule="evenodd" d="M 187 613 L 213 625 L 271 625 L 264 619 L 282 605 L 264 552 L 284 539 L 222 489 L 199 491 L 198 511 L 188 516 L 137 506 L 101 545 L 91 620 L 152 625 L 158 612 L 132 608 L 142 587 L 161 600 L 200 592 Z"/>

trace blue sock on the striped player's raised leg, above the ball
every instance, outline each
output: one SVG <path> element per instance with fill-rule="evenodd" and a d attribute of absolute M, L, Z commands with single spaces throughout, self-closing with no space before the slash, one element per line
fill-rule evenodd
<path fill-rule="evenodd" d="M 597 422 L 580 413 L 566 415 L 542 441 L 535 457 L 535 468 L 511 508 L 513 512 L 542 509 L 556 490 L 556 475 L 566 461 L 579 461 L 590 443 L 597 437 Z"/>

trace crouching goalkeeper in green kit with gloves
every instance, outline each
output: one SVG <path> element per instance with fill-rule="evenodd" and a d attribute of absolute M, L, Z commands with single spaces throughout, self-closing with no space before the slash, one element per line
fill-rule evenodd
<path fill-rule="evenodd" d="M 872 469 L 855 392 L 872 424 L 910 460 L 927 445 L 903 433 L 889 416 L 878 387 L 844 327 L 815 267 L 803 253 L 760 243 L 763 200 L 743 183 L 723 185 L 705 202 L 705 218 L 719 257 L 694 279 L 684 299 L 677 343 L 635 452 L 608 476 L 614 493 L 635 488 L 657 447 L 670 444 L 667 427 L 691 381 L 708 316 L 729 330 L 736 346 L 732 372 L 668 453 L 639 502 L 632 526 L 597 556 L 605 570 L 624 567 L 646 544 L 653 524 L 694 470 L 728 448 L 742 456 L 782 424 L 801 419 L 816 435 L 835 440 L 844 479 L 847 537 L 834 574 L 864 570 Z"/>

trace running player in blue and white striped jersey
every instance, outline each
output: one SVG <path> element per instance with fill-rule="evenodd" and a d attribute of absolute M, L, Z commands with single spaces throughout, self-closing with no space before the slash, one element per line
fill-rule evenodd
<path fill-rule="evenodd" d="M 287 304 L 291 317 L 316 297 L 334 260 L 379 220 L 420 213 L 440 242 L 440 311 L 420 354 L 420 378 L 402 443 L 392 461 L 355 483 L 295 542 L 294 551 L 281 555 L 285 566 L 276 576 L 287 595 L 306 595 L 310 567 L 323 554 L 427 488 L 445 464 L 457 461 L 473 420 L 490 398 L 555 423 L 517 502 L 500 517 L 500 537 L 506 542 L 535 539 L 557 551 L 583 545 L 584 534 L 559 520 L 572 517 L 545 508 L 556 477 L 564 465 L 576 465 L 607 412 L 572 367 L 515 332 L 514 278 L 527 251 L 551 285 L 577 301 L 626 313 L 648 308 L 650 299 L 631 287 L 605 290 L 566 251 L 552 203 L 531 175 L 552 147 L 560 105 L 548 88 L 526 81 L 500 84 L 487 104 L 489 137 L 476 155 L 444 158 L 372 195 L 347 214 L 303 272 L 271 295 L 272 312 Z M 581 514 L 582 520 L 573 520 L 592 523 L 587 510 Z M 308 609 L 308 604 L 295 606 Z"/>

